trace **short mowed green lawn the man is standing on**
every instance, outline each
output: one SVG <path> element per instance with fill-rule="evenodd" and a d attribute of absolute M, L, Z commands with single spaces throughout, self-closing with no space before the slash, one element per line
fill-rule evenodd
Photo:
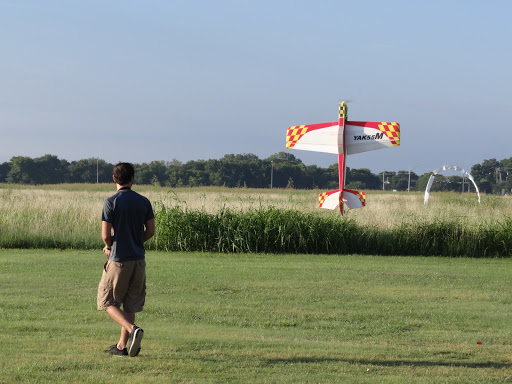
<path fill-rule="evenodd" d="M 512 381 L 512 260 L 148 252 L 136 358 L 101 251 L 0 250 L 0 382 Z"/>

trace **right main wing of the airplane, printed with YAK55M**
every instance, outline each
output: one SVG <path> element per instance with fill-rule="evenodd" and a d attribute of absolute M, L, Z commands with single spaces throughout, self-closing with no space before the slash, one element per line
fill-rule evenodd
<path fill-rule="evenodd" d="M 345 125 L 347 155 L 400 145 L 400 124 L 347 121 Z"/>

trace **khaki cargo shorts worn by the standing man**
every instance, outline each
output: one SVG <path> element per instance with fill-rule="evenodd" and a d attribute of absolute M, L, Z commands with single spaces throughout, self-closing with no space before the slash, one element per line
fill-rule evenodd
<path fill-rule="evenodd" d="M 98 310 L 115 306 L 141 312 L 146 300 L 146 260 L 108 261 L 98 285 Z"/>

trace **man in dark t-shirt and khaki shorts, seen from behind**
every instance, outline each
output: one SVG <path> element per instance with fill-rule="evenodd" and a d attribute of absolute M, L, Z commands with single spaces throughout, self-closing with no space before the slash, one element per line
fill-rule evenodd
<path fill-rule="evenodd" d="M 119 341 L 105 352 L 130 357 L 139 354 L 144 335 L 135 325 L 135 313 L 142 311 L 146 297 L 144 242 L 155 234 L 151 203 L 131 190 L 134 175 L 129 163 L 114 167 L 117 193 L 105 200 L 101 214 L 107 262 L 98 286 L 98 309 L 105 310 L 121 326 Z"/>

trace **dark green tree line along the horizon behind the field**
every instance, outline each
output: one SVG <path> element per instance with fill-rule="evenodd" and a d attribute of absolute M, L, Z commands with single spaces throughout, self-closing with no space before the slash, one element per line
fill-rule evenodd
<path fill-rule="evenodd" d="M 16 156 L 0 164 L 0 183 L 60 184 L 110 183 L 114 164 L 98 158 L 67 161 L 54 155 L 38 158 Z M 229 188 L 337 189 L 338 164 L 327 168 L 305 165 L 294 155 L 279 152 L 266 159 L 254 154 L 228 154 L 220 159 L 191 160 L 182 163 L 152 161 L 134 164 L 135 183 L 167 187 L 225 186 Z M 481 192 L 509 193 L 512 190 L 512 158 L 485 160 L 471 168 Z M 356 190 L 424 190 L 431 173 L 347 168 L 346 188 Z M 473 186 L 461 176 L 437 175 L 433 191 L 468 191 Z"/>

